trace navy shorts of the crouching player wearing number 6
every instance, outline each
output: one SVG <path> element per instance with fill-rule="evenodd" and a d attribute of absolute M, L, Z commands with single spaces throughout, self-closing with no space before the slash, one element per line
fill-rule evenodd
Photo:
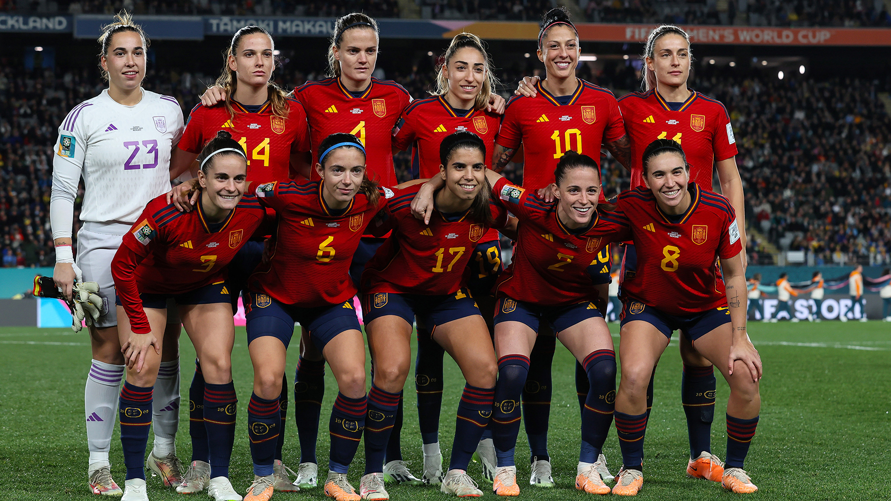
<path fill-rule="evenodd" d="M 294 335 L 295 323 L 309 329 L 310 339 L 319 352 L 322 352 L 325 344 L 341 332 L 347 330 L 362 332 L 352 300 L 315 308 L 301 308 L 294 304 L 279 303 L 262 293 L 249 292 L 248 297 L 250 301 L 245 304 L 248 344 L 257 337 L 271 335 L 282 341 L 287 348 L 290 337 Z"/>

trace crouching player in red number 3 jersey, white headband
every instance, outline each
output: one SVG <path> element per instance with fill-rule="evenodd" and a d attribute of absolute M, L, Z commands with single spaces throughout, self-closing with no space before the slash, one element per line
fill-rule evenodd
<path fill-rule="evenodd" d="M 241 501 L 229 482 L 238 400 L 232 381 L 235 327 L 226 265 L 266 216 L 257 198 L 241 198 L 246 172 L 241 145 L 220 131 L 201 152 L 197 210 L 183 214 L 165 195 L 153 199 L 124 235 L 111 262 L 127 362 L 119 413 L 127 464 L 124 499 L 148 499 L 143 457 L 163 346 L 161 332 L 167 301 L 173 298 L 206 378 L 200 424 L 207 437 L 208 494 L 217 501 Z"/>

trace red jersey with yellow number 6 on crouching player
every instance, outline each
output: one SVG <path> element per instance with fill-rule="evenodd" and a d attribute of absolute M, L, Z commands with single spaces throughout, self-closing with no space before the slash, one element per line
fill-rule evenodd
<path fill-rule="evenodd" d="M 263 206 L 275 209 L 278 226 L 272 257 L 257 266 L 249 288 L 304 308 L 343 303 L 356 295 L 349 265 L 365 227 L 393 191 L 380 189 L 377 205 L 356 194 L 347 209 L 335 215 L 322 198 L 319 181 L 268 182 L 250 189 Z"/>

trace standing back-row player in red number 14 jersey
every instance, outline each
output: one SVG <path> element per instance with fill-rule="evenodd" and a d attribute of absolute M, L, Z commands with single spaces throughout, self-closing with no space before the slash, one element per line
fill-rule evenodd
<path fill-rule="evenodd" d="M 303 107 L 272 81 L 275 69 L 273 51 L 273 38 L 263 28 L 248 26 L 235 33 L 225 56 L 223 71 L 217 78 L 217 85 L 225 90 L 225 102 L 211 107 L 198 104 L 192 109 L 183 140 L 179 143 L 183 154 L 180 162 L 173 166 L 174 174 L 191 166 L 204 144 L 222 128 L 232 133 L 248 154 L 248 181 L 288 180 L 290 159 L 309 149 L 309 131 Z M 174 192 L 178 194 L 190 188 L 192 183 L 184 182 Z M 174 200 L 176 203 L 177 198 Z M 188 210 L 190 207 L 184 208 Z M 272 212 L 271 209 L 267 210 L 267 213 Z M 248 241 L 230 265 L 229 289 L 233 293 L 233 309 L 237 307 L 238 297 L 250 273 L 262 259 L 262 240 Z M 287 376 L 282 384 L 287 387 Z M 181 493 L 200 491 L 209 480 L 208 439 L 201 422 L 203 388 L 200 363 L 196 361 L 192 386 L 189 388 L 192 465 L 184 476 L 184 483 L 177 488 Z M 287 395 L 282 393 L 279 405 L 282 426 L 287 415 Z M 279 434 L 275 449 L 275 489 L 297 490 L 290 483 L 289 468 L 282 463 L 283 444 L 284 432 Z"/>

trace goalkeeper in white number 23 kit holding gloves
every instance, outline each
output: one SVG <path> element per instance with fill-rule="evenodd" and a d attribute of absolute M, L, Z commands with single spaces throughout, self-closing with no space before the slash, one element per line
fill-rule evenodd
<path fill-rule="evenodd" d="M 110 263 L 145 204 L 170 189 L 170 157 L 171 151 L 176 156 L 176 143 L 183 133 L 183 111 L 176 99 L 141 86 L 149 40 L 128 14 L 116 16 L 115 22 L 102 29 L 99 44 L 102 77 L 109 88 L 78 104 L 59 126 L 50 222 L 56 246 L 56 286 L 66 298 L 71 297 L 73 286 L 85 280 L 100 287 L 102 312 L 89 328 L 93 361 L 84 392 L 88 476 L 94 494 L 120 496 L 121 489 L 111 479 L 109 448 L 124 360 Z M 80 219 L 84 223 L 78 231 L 75 264 L 71 229 L 81 177 L 85 193 Z M 176 485 L 182 480 L 174 442 L 179 423 L 179 320 L 170 320 L 148 465 L 165 484 Z"/>

